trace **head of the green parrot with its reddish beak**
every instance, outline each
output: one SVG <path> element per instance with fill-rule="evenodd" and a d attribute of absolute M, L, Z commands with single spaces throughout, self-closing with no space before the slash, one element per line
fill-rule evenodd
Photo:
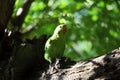
<path fill-rule="evenodd" d="M 66 25 L 58 25 L 54 31 L 55 34 L 61 34 L 64 35 L 67 32 Z"/>

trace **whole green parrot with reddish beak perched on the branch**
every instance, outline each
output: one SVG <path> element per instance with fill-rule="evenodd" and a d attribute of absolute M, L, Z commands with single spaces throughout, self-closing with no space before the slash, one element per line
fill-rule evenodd
<path fill-rule="evenodd" d="M 66 32 L 67 27 L 65 25 L 58 25 L 54 30 L 53 35 L 47 40 L 44 58 L 50 63 L 53 63 L 57 58 L 63 56 Z"/>

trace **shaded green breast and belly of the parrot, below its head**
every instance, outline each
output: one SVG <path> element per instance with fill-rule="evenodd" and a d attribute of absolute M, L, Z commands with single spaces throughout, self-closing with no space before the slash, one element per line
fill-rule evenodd
<path fill-rule="evenodd" d="M 55 60 L 56 58 L 62 57 L 64 54 L 65 49 L 65 40 L 63 38 L 58 39 L 51 39 L 47 44 L 47 57 L 51 59 L 51 61 Z"/>

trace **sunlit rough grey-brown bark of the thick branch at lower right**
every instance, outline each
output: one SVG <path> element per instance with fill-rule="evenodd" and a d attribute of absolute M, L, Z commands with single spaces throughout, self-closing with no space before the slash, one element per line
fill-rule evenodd
<path fill-rule="evenodd" d="M 43 73 L 39 80 L 119 80 L 120 49 L 69 67 L 53 74 Z"/>

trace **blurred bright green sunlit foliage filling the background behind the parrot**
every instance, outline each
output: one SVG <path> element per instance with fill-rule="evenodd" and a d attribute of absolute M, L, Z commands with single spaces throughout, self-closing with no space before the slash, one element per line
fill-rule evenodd
<path fill-rule="evenodd" d="M 23 2 L 17 0 L 14 14 Z M 35 0 L 21 32 L 24 39 L 39 38 L 65 23 L 69 28 L 65 56 L 76 61 L 95 57 L 119 47 L 119 4 L 117 0 Z"/>

